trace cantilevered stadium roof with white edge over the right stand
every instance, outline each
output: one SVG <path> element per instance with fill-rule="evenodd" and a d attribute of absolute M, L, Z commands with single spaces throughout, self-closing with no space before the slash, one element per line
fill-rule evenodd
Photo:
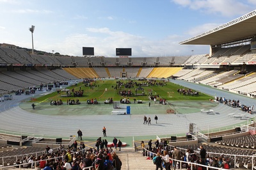
<path fill-rule="evenodd" d="M 256 36 L 256 10 L 200 35 L 180 42 L 187 45 L 219 45 Z"/>

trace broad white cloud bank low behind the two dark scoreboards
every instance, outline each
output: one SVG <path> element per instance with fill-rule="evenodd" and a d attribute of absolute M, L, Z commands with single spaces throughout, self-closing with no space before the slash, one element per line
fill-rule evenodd
<path fill-rule="evenodd" d="M 209 48 L 205 47 L 187 47 L 179 45 L 184 37 L 178 35 L 170 35 L 162 40 L 149 40 L 142 36 L 131 35 L 123 31 L 111 31 L 108 27 L 103 28 L 88 28 L 87 34 L 76 34 L 66 36 L 61 43 L 40 44 L 38 47 L 43 47 L 47 52 L 54 50 L 61 54 L 71 56 L 82 56 L 82 47 L 94 47 L 95 56 L 115 57 L 115 48 L 131 47 L 132 56 L 147 57 L 147 56 L 186 56 L 191 54 L 191 48 L 195 50 L 194 54 L 204 54 Z M 95 33 L 100 33 L 96 34 Z M 92 35 L 91 35 L 92 34 Z"/>

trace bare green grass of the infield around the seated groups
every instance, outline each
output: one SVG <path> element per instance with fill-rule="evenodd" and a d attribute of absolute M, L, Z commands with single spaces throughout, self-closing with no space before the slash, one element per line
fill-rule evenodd
<path fill-rule="evenodd" d="M 121 81 L 127 83 L 128 81 Z M 133 81 L 133 82 L 146 82 L 146 81 Z M 163 82 L 163 81 L 157 81 L 157 82 Z M 83 83 L 79 83 L 76 86 L 70 86 L 67 89 L 70 89 L 70 91 L 74 88 L 74 91 L 84 90 L 83 97 L 78 97 L 80 101 L 86 101 L 91 98 L 97 98 L 98 101 L 104 101 L 107 98 L 113 98 L 114 101 L 119 101 L 121 98 L 124 98 L 120 95 L 118 95 L 118 91 L 128 91 L 129 89 L 134 93 L 132 97 L 126 97 L 130 98 L 131 102 L 134 98 L 136 100 L 148 100 L 148 93 L 151 93 L 152 95 L 159 95 L 159 97 L 166 99 L 166 100 L 177 100 L 177 101 L 184 101 L 184 100 L 196 100 L 196 101 L 206 101 L 209 100 L 209 98 L 212 98 L 209 95 L 205 95 L 204 93 L 199 93 L 197 96 L 191 96 L 191 95 L 180 95 L 180 93 L 177 92 L 177 89 L 184 88 L 182 86 L 179 86 L 177 84 L 173 84 L 171 82 L 165 82 L 164 86 L 141 86 L 141 88 L 144 89 L 145 96 L 136 96 L 135 91 L 136 88 L 139 86 L 134 86 L 133 88 L 125 88 L 124 86 L 121 86 L 118 89 L 115 89 L 116 87 L 116 81 L 113 80 L 104 80 L 104 81 L 96 81 L 91 83 L 95 88 L 91 88 L 88 86 L 84 86 Z M 188 88 L 184 88 L 188 89 Z M 61 91 L 60 94 L 57 93 L 57 91 L 50 93 L 49 95 L 45 95 L 44 97 L 36 98 L 38 102 L 45 101 L 48 102 L 49 100 L 57 100 L 61 99 L 63 102 L 67 102 L 68 99 L 77 99 L 77 97 L 61 97 L 61 95 L 65 95 L 65 91 Z"/>

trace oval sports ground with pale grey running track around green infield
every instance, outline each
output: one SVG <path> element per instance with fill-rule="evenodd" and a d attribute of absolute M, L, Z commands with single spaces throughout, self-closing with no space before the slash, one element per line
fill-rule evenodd
<path fill-rule="evenodd" d="M 212 132 L 212 130 L 232 128 L 240 123 L 246 124 L 248 121 L 247 118 L 246 120 L 230 118 L 228 116 L 229 113 L 244 114 L 244 112 L 227 105 L 210 102 L 209 98 L 212 97 L 204 95 L 201 91 L 198 96 L 180 95 L 180 93 L 177 93 L 177 88 L 183 87 L 179 85 L 173 86 L 170 82 L 163 87 L 145 87 L 147 93 L 147 88 L 150 88 L 153 95 L 159 94 L 159 97 L 166 98 L 168 101 L 166 105 L 159 104 L 159 102 L 156 102 L 156 104 L 151 102 L 149 107 L 148 94 L 145 97 L 134 97 L 136 100 L 143 100 L 145 98 L 143 104 L 134 104 L 133 102 L 131 104 L 119 104 L 120 98 L 123 97 L 117 95 L 115 89 L 111 89 L 112 84 L 116 82 L 109 81 L 108 85 L 104 85 L 107 82 L 99 81 L 99 87 L 102 87 L 102 89 L 99 87 L 99 89 L 90 89 L 90 87 L 84 86 L 84 91 L 87 90 L 87 92 L 85 97 L 79 98 L 81 100 L 80 105 L 67 105 L 65 102 L 65 100 L 67 101 L 66 98 L 62 99 L 63 105 L 50 105 L 50 100 L 60 98 L 60 94 L 57 92 L 50 94 L 49 91 L 44 90 L 36 91 L 35 95 L 29 97 L 25 95 L 13 96 L 13 100 L 1 103 L 2 121 L 0 129 L 8 129 L 12 132 L 44 134 L 45 137 L 51 136 L 53 138 L 68 138 L 70 135 L 77 135 L 77 130 L 81 129 L 84 134 L 83 140 L 95 141 L 95 139 L 102 136 L 102 127 L 105 126 L 108 136 L 106 139 L 108 141 L 113 140 L 113 137 L 118 137 L 123 142 L 131 144 L 133 137 L 135 140 L 143 139 L 146 141 L 147 139 L 156 139 L 156 135 L 160 137 L 185 135 L 188 132 L 189 123 L 195 123 L 201 132 L 207 132 L 207 130 Z M 82 88 L 83 84 L 77 84 L 77 86 L 72 86 L 70 89 L 80 88 L 80 86 Z M 104 92 L 106 86 L 108 89 Z M 171 88 L 172 86 L 174 88 Z M 213 90 L 212 88 L 200 85 L 196 85 L 195 88 L 198 88 L 198 91 L 199 89 L 204 89 L 208 92 Z M 92 93 L 90 93 L 91 91 Z M 112 93 L 108 91 L 112 91 Z M 173 91 L 173 96 L 168 97 L 166 91 Z M 220 92 L 222 95 L 225 94 L 223 91 Z M 92 95 L 93 97 L 91 94 L 94 94 Z M 113 95 L 109 96 L 111 94 Z M 118 107 L 121 109 L 125 110 L 127 106 L 130 106 L 131 114 L 111 115 L 111 111 L 115 110 L 113 109 L 113 104 L 86 104 L 87 98 L 98 98 L 100 103 L 102 103 L 103 99 L 100 100 L 100 96 L 102 98 L 113 97 L 114 101 L 119 102 Z M 31 102 L 26 102 L 27 100 L 24 99 L 32 97 L 37 98 L 36 101 L 33 101 L 36 104 L 35 110 L 32 109 Z M 170 108 L 175 109 L 177 114 L 166 114 L 166 109 Z M 214 112 L 213 114 L 206 114 L 200 112 L 201 109 L 212 109 Z M 157 123 L 154 121 L 156 114 L 159 118 Z M 143 125 L 144 116 L 152 118 L 151 125 Z M 253 115 L 248 115 L 248 118 L 250 116 L 253 118 Z"/>

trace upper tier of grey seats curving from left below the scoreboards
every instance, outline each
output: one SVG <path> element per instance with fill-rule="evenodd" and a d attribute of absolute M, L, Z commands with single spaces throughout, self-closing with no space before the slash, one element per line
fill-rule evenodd
<path fill-rule="evenodd" d="M 104 58 L 104 57 L 74 57 L 52 55 L 30 55 L 23 49 L 0 47 L 0 64 L 20 65 L 54 65 L 54 66 L 154 66 L 154 65 L 182 65 L 189 56 L 153 57 L 153 58 Z"/>

